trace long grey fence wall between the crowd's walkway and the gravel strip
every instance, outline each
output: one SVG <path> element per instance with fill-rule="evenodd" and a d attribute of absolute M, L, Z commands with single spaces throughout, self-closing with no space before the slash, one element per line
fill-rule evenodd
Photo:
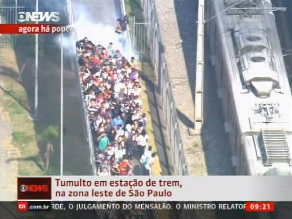
<path fill-rule="evenodd" d="M 180 130 L 178 127 L 178 116 L 173 98 L 173 91 L 170 86 L 170 73 L 168 71 L 167 60 L 164 54 L 164 46 L 161 30 L 159 28 L 159 17 L 155 8 L 155 1 L 142 0 L 141 6 L 145 17 L 145 24 L 147 24 L 145 25 L 147 27 L 145 35 L 147 36 L 150 60 L 159 80 L 158 92 L 160 93 L 162 102 L 161 119 L 166 126 L 168 144 L 172 154 L 174 174 L 189 175 L 185 159 L 185 149 L 182 145 Z M 135 32 L 137 33 L 137 31 Z"/>

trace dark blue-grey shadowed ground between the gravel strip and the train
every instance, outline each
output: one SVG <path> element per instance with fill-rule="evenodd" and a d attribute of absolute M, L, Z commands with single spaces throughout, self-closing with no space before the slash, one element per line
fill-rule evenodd
<path fill-rule="evenodd" d="M 197 19 L 198 1 L 173 0 L 180 31 L 181 44 L 187 67 L 187 74 L 194 99 L 195 75 L 196 75 L 196 51 L 197 51 Z M 228 135 L 224 131 L 221 103 L 217 96 L 215 74 L 209 60 L 211 48 L 208 48 L 205 39 L 205 75 L 204 75 L 204 124 L 202 128 L 202 143 L 208 175 L 234 175 L 231 164 L 231 152 Z M 191 127 L 189 121 L 182 112 L 178 111 L 179 119 Z"/>

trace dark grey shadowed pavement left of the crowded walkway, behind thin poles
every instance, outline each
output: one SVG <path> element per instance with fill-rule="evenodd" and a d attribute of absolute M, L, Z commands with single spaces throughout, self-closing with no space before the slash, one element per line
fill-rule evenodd
<path fill-rule="evenodd" d="M 31 10 L 34 1 L 19 1 Z M 20 4 L 19 3 L 19 4 Z M 3 5 L 3 4 L 2 4 Z M 53 9 L 52 9 L 53 8 Z M 65 1 L 39 0 L 39 11 L 59 11 L 62 24 L 64 19 Z M 63 18 L 63 19 L 62 19 Z M 7 20 L 7 19 L 6 19 Z M 37 134 L 50 125 L 60 125 L 60 47 L 56 44 L 58 35 L 39 35 L 38 64 L 38 119 L 35 121 Z M 74 45 L 74 42 L 72 42 Z M 15 53 L 18 67 L 22 69 L 21 83 L 28 98 L 31 113 L 34 113 L 34 36 L 19 35 L 16 37 Z M 64 51 L 66 53 L 66 50 Z M 74 65 L 75 62 L 75 65 Z M 87 144 L 86 124 L 82 108 L 79 78 L 77 74 L 76 57 L 64 55 L 64 172 L 70 175 L 92 175 Z M 6 69 L 9 70 L 9 69 Z M 16 77 L 15 74 L 10 74 Z M 16 78 L 15 78 L 16 79 Z M 55 153 L 51 158 L 51 167 L 60 169 L 60 140 L 53 141 Z M 46 145 L 39 143 L 41 157 Z M 32 158 L 23 158 L 32 159 Z M 58 171 L 58 174 L 60 172 Z"/>

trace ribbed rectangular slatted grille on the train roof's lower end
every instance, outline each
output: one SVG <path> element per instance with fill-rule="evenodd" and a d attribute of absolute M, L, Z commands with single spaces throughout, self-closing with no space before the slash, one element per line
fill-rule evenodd
<path fill-rule="evenodd" d="M 291 166 L 286 133 L 283 130 L 261 130 L 260 145 L 265 166 L 286 163 Z"/>

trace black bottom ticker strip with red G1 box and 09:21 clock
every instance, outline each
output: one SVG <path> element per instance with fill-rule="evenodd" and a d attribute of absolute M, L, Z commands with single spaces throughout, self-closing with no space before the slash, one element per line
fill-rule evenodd
<path fill-rule="evenodd" d="M 28 211 L 112 211 L 112 210 L 210 210 L 210 211 L 246 211 L 272 212 L 275 202 L 51 202 L 18 201 L 19 212 Z"/>

